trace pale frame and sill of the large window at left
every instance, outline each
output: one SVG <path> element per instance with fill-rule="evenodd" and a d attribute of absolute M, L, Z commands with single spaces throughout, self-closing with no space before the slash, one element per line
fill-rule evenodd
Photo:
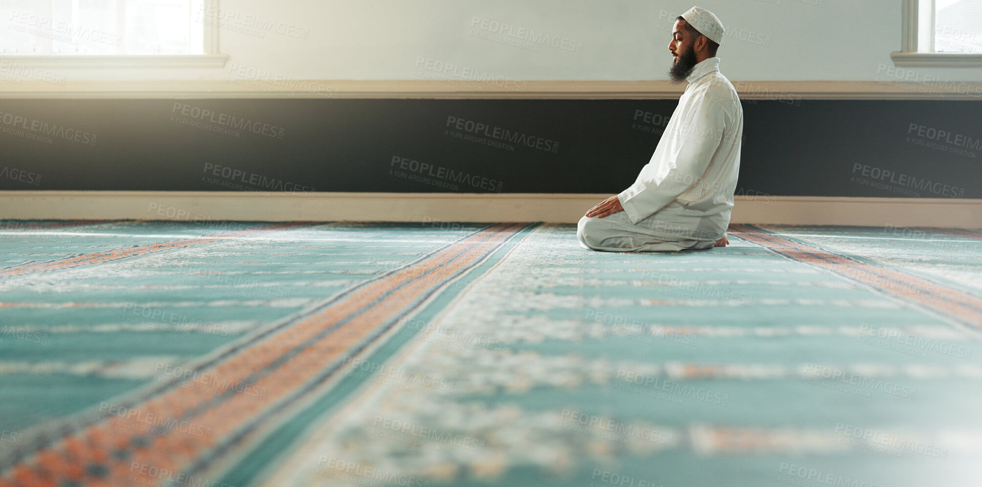
<path fill-rule="evenodd" d="M 0 55 L 10 62 L 37 68 L 224 68 L 229 59 L 218 49 L 218 0 L 204 0 L 204 54 L 28 54 Z"/>

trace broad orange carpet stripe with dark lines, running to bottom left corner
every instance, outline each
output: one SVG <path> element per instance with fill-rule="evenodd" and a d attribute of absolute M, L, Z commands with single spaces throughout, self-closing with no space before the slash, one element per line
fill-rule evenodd
<path fill-rule="evenodd" d="M 500 224 L 476 232 L 371 282 L 198 371 L 210 374 L 215 381 L 195 382 L 193 389 L 175 385 L 140 405 L 127 406 L 123 416 L 104 414 L 103 422 L 85 426 L 59 444 L 37 451 L 31 460 L 15 464 L 7 479 L 25 486 L 59 485 L 66 480 L 85 485 L 152 485 L 164 480 L 146 473 L 146 469 L 135 470 L 134 464 L 178 475 L 202 455 L 235 438 L 253 418 L 296 399 L 304 386 L 322 377 L 322 371 L 339 363 L 346 352 L 384 323 L 404 315 L 441 282 L 478 264 L 524 227 Z M 327 333 L 332 328 L 333 332 Z M 243 384 L 262 394 L 237 393 Z M 177 428 L 163 434 L 144 433 L 148 427 L 172 421 Z M 182 429 L 206 429 L 208 434 L 189 434 Z"/>

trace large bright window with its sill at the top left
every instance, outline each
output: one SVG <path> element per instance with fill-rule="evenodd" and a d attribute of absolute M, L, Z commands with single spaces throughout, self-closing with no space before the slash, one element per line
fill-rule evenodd
<path fill-rule="evenodd" d="M 216 0 L 3 0 L 0 56 L 61 67 L 224 66 Z"/>

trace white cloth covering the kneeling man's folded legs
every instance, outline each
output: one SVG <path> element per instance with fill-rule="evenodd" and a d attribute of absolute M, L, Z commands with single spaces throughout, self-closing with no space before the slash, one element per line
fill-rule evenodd
<path fill-rule="evenodd" d="M 623 211 L 603 218 L 584 216 L 576 226 L 576 239 L 583 248 L 607 252 L 704 250 L 712 248 L 719 240 L 680 240 L 654 232 L 651 228 L 665 228 L 654 217 L 652 215 L 634 225 Z"/>

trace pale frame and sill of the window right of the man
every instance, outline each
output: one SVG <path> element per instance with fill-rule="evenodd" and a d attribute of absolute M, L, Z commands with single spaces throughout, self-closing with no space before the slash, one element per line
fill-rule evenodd
<path fill-rule="evenodd" d="M 903 0 L 900 51 L 891 53 L 896 66 L 979 68 L 982 53 L 925 52 L 934 45 L 934 0 Z M 928 17 L 927 22 L 922 21 Z"/>

